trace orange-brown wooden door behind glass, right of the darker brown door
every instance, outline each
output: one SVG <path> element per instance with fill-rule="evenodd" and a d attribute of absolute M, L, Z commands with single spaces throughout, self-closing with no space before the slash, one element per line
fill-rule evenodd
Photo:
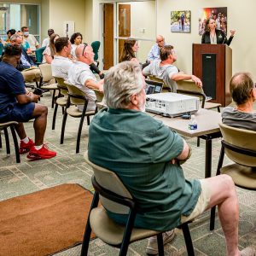
<path fill-rule="evenodd" d="M 119 37 L 131 37 L 131 4 L 119 4 Z M 124 42 L 124 39 L 119 39 L 119 58 Z"/>

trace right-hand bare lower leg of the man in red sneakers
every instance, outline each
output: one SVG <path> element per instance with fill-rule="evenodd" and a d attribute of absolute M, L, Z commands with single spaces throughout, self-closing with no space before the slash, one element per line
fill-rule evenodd
<path fill-rule="evenodd" d="M 34 120 L 34 130 L 35 130 L 35 146 L 40 146 L 44 143 L 44 133 L 47 125 L 47 113 L 48 108 L 35 104 L 33 111 Z"/>

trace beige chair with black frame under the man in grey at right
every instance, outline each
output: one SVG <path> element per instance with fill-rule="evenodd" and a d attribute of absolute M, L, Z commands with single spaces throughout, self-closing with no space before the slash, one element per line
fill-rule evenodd
<path fill-rule="evenodd" d="M 227 174 L 236 186 L 256 190 L 256 132 L 219 124 L 223 136 L 216 175 Z M 224 154 L 233 162 L 223 166 Z M 214 230 L 216 207 L 212 207 L 210 230 Z"/>

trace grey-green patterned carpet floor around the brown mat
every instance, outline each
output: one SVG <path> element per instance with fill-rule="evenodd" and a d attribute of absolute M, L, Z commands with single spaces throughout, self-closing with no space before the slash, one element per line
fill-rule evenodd
<path fill-rule="evenodd" d="M 51 130 L 53 109 L 50 108 L 50 96 L 45 95 L 41 103 L 49 106 L 48 125 L 45 141 L 49 148 L 57 152 L 57 156 L 50 160 L 29 161 L 26 155 L 21 156 L 21 163 L 15 163 L 14 148 L 11 146 L 10 156 L 6 156 L 5 145 L 0 149 L 0 200 L 18 195 L 25 195 L 33 191 L 53 187 L 61 183 L 79 183 L 86 189 L 92 189 L 90 176 L 92 171 L 84 163 L 83 154 L 88 141 L 88 127 L 84 124 L 80 153 L 75 154 L 76 136 L 79 120 L 68 117 L 64 144 L 60 144 L 61 109 L 57 115 L 55 131 Z M 29 137 L 34 137 L 32 122 L 25 124 Z M 3 135 L 2 135 L 3 138 Z M 201 147 L 196 147 L 196 139 L 186 138 L 193 148 L 192 157 L 183 165 L 183 171 L 188 178 L 204 177 L 205 143 L 201 140 Z M 10 140 L 12 141 L 11 137 Z M 217 167 L 220 140 L 212 143 L 212 173 Z M 227 162 L 228 160 L 224 160 Z M 256 246 L 256 193 L 245 189 L 237 189 L 240 202 L 239 247 Z M 218 223 L 213 232 L 209 231 L 209 212 L 197 218 L 190 224 L 190 232 L 195 246 L 195 255 L 219 256 L 224 255 L 224 235 Z M 147 240 L 131 244 L 128 255 L 146 255 Z M 67 251 L 56 253 L 55 256 L 77 256 L 81 247 L 73 247 Z M 90 242 L 90 255 L 118 255 L 119 251 L 108 247 L 96 239 Z M 187 255 L 184 247 L 182 232 L 177 230 L 177 236 L 165 247 L 166 255 Z"/>

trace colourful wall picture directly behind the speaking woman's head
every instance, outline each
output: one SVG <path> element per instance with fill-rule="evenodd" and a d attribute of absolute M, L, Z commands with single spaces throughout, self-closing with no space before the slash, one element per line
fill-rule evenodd
<path fill-rule="evenodd" d="M 227 8 L 226 7 L 209 7 L 199 11 L 198 33 L 202 35 L 206 29 L 207 19 L 216 21 L 216 28 L 227 34 Z"/>

